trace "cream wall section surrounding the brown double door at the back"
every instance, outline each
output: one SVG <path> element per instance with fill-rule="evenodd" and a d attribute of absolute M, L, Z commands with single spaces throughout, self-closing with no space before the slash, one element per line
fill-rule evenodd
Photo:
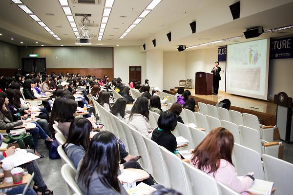
<path fill-rule="evenodd" d="M 146 52 L 139 52 L 139 46 L 114 47 L 114 78 L 129 82 L 129 66 L 142 66 L 142 82 L 146 79 Z"/>

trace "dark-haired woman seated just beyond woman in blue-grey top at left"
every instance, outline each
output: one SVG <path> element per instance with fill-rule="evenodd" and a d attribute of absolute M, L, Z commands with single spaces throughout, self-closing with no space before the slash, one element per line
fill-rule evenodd
<path fill-rule="evenodd" d="M 58 122 L 58 128 L 67 139 L 70 124 L 76 117 L 77 103 L 73 99 L 65 99 L 60 107 L 60 117 Z"/>

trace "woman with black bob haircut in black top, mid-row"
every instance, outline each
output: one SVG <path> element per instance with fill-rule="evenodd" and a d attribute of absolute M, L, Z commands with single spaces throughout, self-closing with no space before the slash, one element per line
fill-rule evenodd
<path fill-rule="evenodd" d="M 158 119 L 158 127 L 154 129 L 151 140 L 180 157 L 180 154 L 177 152 L 176 137 L 171 133 L 176 125 L 175 114 L 170 111 L 163 112 Z"/>

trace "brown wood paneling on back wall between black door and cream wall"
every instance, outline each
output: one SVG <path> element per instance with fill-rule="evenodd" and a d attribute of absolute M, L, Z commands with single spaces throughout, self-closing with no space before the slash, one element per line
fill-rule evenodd
<path fill-rule="evenodd" d="M 91 75 L 96 76 L 97 78 L 103 78 L 104 75 L 108 75 L 110 80 L 114 78 L 114 69 L 113 68 L 47 68 L 47 74 L 51 74 L 55 72 L 58 73 L 80 73 L 82 76 L 84 75 Z"/>

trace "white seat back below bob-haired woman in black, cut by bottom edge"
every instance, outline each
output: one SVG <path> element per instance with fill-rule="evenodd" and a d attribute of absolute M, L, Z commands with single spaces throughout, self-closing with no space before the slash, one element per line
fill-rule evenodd
<path fill-rule="evenodd" d="M 176 155 L 168 151 L 166 148 L 160 146 L 163 159 L 166 163 L 167 174 L 170 181 L 170 188 L 177 190 L 183 195 L 190 194 L 188 188 L 188 180 L 186 177 L 183 162 Z"/>

